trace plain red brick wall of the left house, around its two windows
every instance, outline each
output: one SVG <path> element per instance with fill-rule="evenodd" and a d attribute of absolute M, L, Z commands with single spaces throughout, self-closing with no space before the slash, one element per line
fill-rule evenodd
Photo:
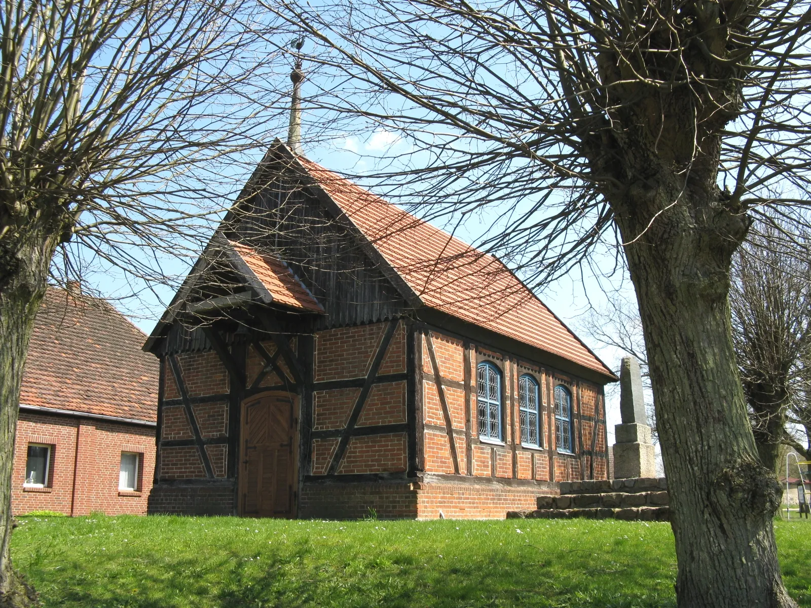
<path fill-rule="evenodd" d="M 15 515 L 56 511 L 87 515 L 144 514 L 155 468 L 155 429 L 89 418 L 19 413 L 11 482 L 11 510 Z M 79 439 L 77 453 L 76 443 Z M 28 443 L 51 445 L 50 487 L 24 489 Z M 121 452 L 139 452 L 138 492 L 118 491 Z M 78 464 L 78 466 L 76 466 Z"/>

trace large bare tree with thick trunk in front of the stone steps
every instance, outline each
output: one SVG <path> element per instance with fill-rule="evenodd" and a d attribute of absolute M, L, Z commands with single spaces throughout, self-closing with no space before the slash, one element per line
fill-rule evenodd
<path fill-rule="evenodd" d="M 310 102 L 408 139 L 389 183 L 435 214 L 481 214 L 483 245 L 527 280 L 618 246 L 657 395 L 679 605 L 795 606 L 728 291 L 753 216 L 809 200 L 807 0 L 267 6 L 323 44 L 335 79 Z"/>

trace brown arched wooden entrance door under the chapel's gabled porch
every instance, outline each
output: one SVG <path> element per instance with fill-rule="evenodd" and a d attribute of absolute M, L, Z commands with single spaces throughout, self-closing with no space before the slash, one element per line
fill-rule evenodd
<path fill-rule="evenodd" d="M 297 398 L 266 392 L 242 404 L 242 515 L 293 517 Z"/>

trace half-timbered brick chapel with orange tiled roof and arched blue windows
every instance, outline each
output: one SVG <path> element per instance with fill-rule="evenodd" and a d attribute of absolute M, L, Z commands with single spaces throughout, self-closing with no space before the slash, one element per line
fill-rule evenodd
<path fill-rule="evenodd" d="M 498 259 L 281 142 L 144 349 L 150 512 L 504 517 L 607 477 L 611 370 Z"/>

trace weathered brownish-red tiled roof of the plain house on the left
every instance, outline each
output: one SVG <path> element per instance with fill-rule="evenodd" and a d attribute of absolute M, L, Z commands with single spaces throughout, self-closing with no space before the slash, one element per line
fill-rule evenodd
<path fill-rule="evenodd" d="M 155 422 L 158 361 L 141 350 L 144 337 L 108 302 L 49 287 L 20 404 Z"/>

